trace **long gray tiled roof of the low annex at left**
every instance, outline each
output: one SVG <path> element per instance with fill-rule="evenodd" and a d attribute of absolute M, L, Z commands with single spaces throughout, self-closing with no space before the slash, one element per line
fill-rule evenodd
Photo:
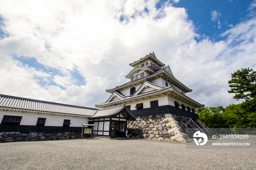
<path fill-rule="evenodd" d="M 98 109 L 65 105 L 61 103 L 39 101 L 0 94 L 0 107 L 23 109 L 38 112 L 63 113 L 80 116 L 93 116 Z"/>

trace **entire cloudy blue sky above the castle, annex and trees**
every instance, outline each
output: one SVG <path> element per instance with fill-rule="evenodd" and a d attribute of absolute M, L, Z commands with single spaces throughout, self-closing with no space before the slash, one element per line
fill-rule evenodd
<path fill-rule="evenodd" d="M 256 70 L 254 0 L 1 1 L 0 94 L 86 107 L 154 51 L 208 107 L 240 103 L 227 81 Z"/>

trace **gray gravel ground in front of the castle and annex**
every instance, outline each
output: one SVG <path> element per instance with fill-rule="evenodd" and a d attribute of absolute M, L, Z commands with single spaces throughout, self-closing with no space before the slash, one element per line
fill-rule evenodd
<path fill-rule="evenodd" d="M 1 170 L 255 170 L 255 149 L 186 149 L 185 143 L 75 139 L 0 143 Z"/>

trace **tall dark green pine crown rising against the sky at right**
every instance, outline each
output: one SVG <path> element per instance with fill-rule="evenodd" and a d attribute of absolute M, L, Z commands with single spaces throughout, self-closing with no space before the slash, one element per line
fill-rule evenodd
<path fill-rule="evenodd" d="M 235 93 L 234 99 L 245 99 L 245 101 L 251 100 L 256 95 L 256 71 L 253 69 L 242 68 L 231 74 L 231 80 L 228 81 L 229 93 Z"/>

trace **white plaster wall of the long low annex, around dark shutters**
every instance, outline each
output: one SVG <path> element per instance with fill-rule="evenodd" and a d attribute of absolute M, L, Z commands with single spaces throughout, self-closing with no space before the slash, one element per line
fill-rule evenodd
<path fill-rule="evenodd" d="M 45 126 L 63 126 L 64 119 L 70 120 L 70 127 L 82 127 L 82 124 L 88 124 L 89 119 L 87 117 L 75 117 L 75 116 L 63 116 L 56 114 L 45 114 L 45 113 L 34 113 L 26 112 L 22 113 L 21 111 L 16 110 L 7 110 L 4 112 L 3 109 L 0 109 L 0 121 L 3 120 L 4 115 L 8 116 L 22 116 L 20 125 L 36 125 L 38 117 L 46 118 Z M 52 116 L 53 115 L 53 116 Z"/>

